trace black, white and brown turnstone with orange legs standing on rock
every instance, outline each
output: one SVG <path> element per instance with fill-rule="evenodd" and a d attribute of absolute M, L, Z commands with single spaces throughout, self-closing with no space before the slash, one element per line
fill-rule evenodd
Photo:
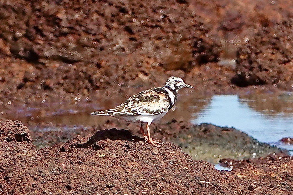
<path fill-rule="evenodd" d="M 153 141 L 150 135 L 149 125 L 154 120 L 159 120 L 174 106 L 177 100 L 178 89 L 194 88 L 185 84 L 179 77 L 171 76 L 165 86 L 151 88 L 132 95 L 125 102 L 110 110 L 92 112 L 93 115 L 112 116 L 117 119 L 140 122 L 140 131 L 146 141 L 153 146 L 160 147 L 157 141 Z M 143 124 L 147 123 L 147 133 L 144 133 Z"/>

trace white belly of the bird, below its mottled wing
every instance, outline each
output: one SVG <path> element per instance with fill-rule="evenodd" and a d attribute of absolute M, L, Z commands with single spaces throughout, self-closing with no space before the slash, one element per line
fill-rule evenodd
<path fill-rule="evenodd" d="M 124 120 L 124 121 L 129 121 L 129 122 L 140 122 L 140 123 L 151 123 L 152 121 L 156 121 L 161 119 L 163 116 L 165 116 L 167 112 L 164 112 L 162 114 L 157 114 L 157 115 L 129 115 L 129 116 L 113 116 L 117 119 Z"/>

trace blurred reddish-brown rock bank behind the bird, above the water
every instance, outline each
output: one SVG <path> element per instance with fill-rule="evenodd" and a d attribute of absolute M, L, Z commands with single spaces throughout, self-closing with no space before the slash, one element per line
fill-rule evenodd
<path fill-rule="evenodd" d="M 170 75 L 197 94 L 292 90 L 288 2 L 2 1 L 1 113 L 81 110 L 77 100 L 130 95 Z"/>

